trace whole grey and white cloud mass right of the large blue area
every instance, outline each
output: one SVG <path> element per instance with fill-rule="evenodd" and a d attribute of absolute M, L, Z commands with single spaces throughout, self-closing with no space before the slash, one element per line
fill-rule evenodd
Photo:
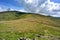
<path fill-rule="evenodd" d="M 25 0 L 24 8 L 28 12 L 39 13 L 43 15 L 60 15 L 60 3 L 54 3 L 50 0 Z"/>

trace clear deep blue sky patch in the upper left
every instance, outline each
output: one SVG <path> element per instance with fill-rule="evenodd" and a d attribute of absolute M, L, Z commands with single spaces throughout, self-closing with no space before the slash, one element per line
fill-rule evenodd
<path fill-rule="evenodd" d="M 0 6 L 6 6 L 5 8 L 16 8 L 21 9 L 22 5 L 15 0 L 0 0 Z"/>

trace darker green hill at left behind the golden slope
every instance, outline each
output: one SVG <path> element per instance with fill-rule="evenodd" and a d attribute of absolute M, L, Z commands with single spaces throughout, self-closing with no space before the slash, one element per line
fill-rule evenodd
<path fill-rule="evenodd" d="M 20 16 L 19 13 L 22 14 L 22 12 L 18 12 L 18 11 L 5 11 L 5 12 L 0 12 L 0 21 L 18 19 L 19 16 Z"/>

